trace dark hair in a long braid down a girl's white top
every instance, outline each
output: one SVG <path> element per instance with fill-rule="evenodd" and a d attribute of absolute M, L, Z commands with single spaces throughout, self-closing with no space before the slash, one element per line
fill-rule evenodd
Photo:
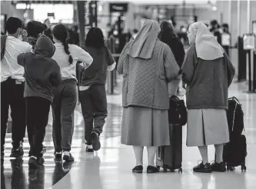
<path fill-rule="evenodd" d="M 55 25 L 55 27 L 52 30 L 53 35 L 56 39 L 59 41 L 62 41 L 62 45 L 64 46 L 65 53 L 69 55 L 68 61 L 70 64 L 73 62 L 73 58 L 70 55 L 70 52 L 68 51 L 68 30 L 65 27 L 65 25 Z"/>

